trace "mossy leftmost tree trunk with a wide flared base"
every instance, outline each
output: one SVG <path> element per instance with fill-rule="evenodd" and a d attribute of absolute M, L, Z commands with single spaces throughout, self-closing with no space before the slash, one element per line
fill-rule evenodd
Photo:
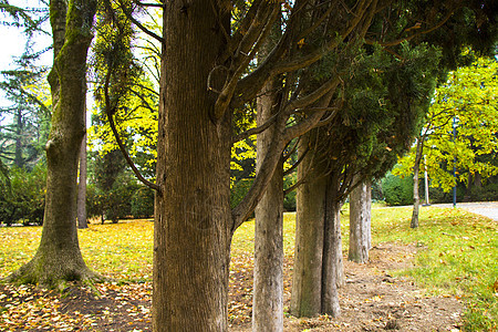
<path fill-rule="evenodd" d="M 48 175 L 42 237 L 34 258 L 10 277 L 46 287 L 94 277 L 83 261 L 77 241 L 76 177 L 85 132 L 86 53 L 96 1 L 70 1 L 68 20 L 64 3 L 51 1 L 50 4 L 55 59 L 49 75 L 53 115 L 45 147 Z M 61 34 L 64 29 L 65 34 Z M 64 35 L 63 42 L 56 35 Z M 61 44 L 63 48 L 59 49 Z"/>

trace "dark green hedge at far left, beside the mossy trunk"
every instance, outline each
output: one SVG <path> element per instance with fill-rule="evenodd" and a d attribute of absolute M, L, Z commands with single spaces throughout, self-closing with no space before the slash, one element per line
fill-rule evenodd
<path fill-rule="evenodd" d="M 32 172 L 11 167 L 10 185 L 0 180 L 0 224 L 43 224 L 45 208 L 46 166 Z"/>

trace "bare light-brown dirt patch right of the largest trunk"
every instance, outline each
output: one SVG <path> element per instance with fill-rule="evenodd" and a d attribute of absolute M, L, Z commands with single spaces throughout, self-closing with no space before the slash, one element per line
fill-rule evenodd
<path fill-rule="evenodd" d="M 464 305 L 455 297 L 428 297 L 412 279 L 390 274 L 413 267 L 416 250 L 415 246 L 383 243 L 371 250 L 366 264 L 344 261 L 346 284 L 340 289 L 341 315 L 287 315 L 284 331 L 459 331 Z M 287 308 L 289 304 L 290 293 L 286 292 Z M 234 322 L 230 331 L 250 330 L 248 320 Z"/>

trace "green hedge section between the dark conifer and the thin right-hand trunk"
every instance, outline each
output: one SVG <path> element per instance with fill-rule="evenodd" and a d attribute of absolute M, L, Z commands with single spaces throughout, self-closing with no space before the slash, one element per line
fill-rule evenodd
<path fill-rule="evenodd" d="M 411 205 L 413 204 L 413 178 L 400 178 L 390 173 L 382 179 L 382 191 L 387 205 Z"/>

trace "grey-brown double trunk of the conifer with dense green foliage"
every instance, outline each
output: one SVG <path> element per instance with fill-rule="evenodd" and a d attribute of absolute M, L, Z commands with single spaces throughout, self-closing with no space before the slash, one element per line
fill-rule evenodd
<path fill-rule="evenodd" d="M 301 156 L 314 144 L 315 134 L 317 132 L 310 132 L 301 137 L 299 145 Z M 326 163 L 323 162 L 307 156 L 298 167 L 298 180 L 304 181 L 298 187 L 297 196 L 295 253 L 290 308 L 291 314 L 295 317 L 340 313 L 336 292 L 338 269 L 342 272 L 342 257 L 338 258 L 336 255 L 336 248 L 341 246 L 340 232 L 339 235 L 336 232 L 340 230 L 338 224 L 340 204 L 328 200 L 330 185 L 325 176 Z"/>

